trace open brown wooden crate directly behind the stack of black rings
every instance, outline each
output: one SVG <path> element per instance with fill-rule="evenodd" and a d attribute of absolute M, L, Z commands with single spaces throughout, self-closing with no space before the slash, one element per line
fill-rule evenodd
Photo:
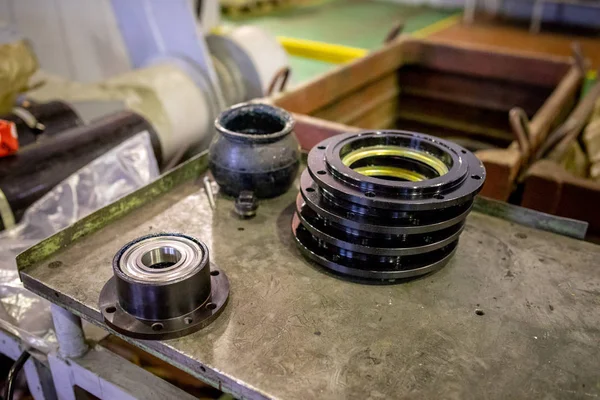
<path fill-rule="evenodd" d="M 528 158 L 513 139 L 509 111 L 518 106 L 528 115 L 535 150 L 571 110 L 582 80 L 581 70 L 565 58 L 401 36 L 270 100 L 348 126 L 455 140 L 478 150 L 485 163 L 483 194 L 507 200 Z"/>

